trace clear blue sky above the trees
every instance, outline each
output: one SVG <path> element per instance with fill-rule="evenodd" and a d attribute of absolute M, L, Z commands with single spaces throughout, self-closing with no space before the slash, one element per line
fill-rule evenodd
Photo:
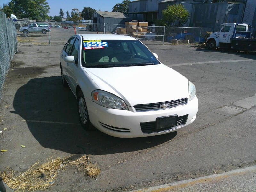
<path fill-rule="evenodd" d="M 6 4 L 9 0 L 0 0 L 0 6 L 3 6 L 3 3 Z M 84 7 L 91 7 L 92 9 L 101 10 L 101 11 L 112 11 L 112 8 L 116 3 L 121 3 L 122 0 L 47 0 L 50 6 L 49 16 L 57 15 L 59 16 L 60 8 L 64 11 L 64 17 L 66 17 L 66 11 L 71 13 L 71 10 L 74 8 L 79 9 L 81 12 Z"/>

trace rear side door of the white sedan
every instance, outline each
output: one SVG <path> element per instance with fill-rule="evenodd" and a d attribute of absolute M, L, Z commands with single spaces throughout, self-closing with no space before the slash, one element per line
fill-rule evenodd
<path fill-rule="evenodd" d="M 70 80 L 70 76 L 69 76 L 69 65 L 70 63 L 67 63 L 64 61 L 64 58 L 69 56 L 69 53 L 71 51 L 71 48 L 75 42 L 75 38 L 70 38 L 67 42 L 67 44 L 64 46 L 64 49 L 62 50 L 62 53 L 61 53 L 61 66 L 62 66 L 62 70 L 63 70 L 63 75 L 66 79 L 66 81 L 68 82 L 68 85 L 71 87 L 71 80 Z M 72 90 L 73 91 L 73 90 Z"/>

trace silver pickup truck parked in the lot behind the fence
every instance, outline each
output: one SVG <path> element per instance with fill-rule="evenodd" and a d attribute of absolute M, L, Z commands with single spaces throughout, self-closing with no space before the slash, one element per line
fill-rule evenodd
<path fill-rule="evenodd" d="M 46 34 L 47 32 L 51 31 L 51 27 L 49 27 L 48 29 L 48 24 L 46 23 L 32 23 L 30 25 L 28 25 L 27 27 L 20 27 L 19 29 L 20 32 L 24 33 L 24 34 L 28 34 L 28 33 L 43 33 Z"/>

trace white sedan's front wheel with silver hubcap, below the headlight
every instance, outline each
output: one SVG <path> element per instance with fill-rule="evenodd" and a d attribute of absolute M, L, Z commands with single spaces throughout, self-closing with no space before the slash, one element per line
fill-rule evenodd
<path fill-rule="evenodd" d="M 92 130 L 92 124 L 89 119 L 88 110 L 82 91 L 79 91 L 77 94 L 77 111 L 82 127 L 87 131 Z"/>

